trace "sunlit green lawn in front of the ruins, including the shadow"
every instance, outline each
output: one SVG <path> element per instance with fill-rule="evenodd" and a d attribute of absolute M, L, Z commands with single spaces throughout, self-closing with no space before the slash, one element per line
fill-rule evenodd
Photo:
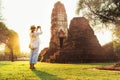
<path fill-rule="evenodd" d="M 110 63 L 36 64 L 29 69 L 28 61 L 0 62 L 0 80 L 120 80 L 119 71 L 94 70 L 93 67 Z"/>

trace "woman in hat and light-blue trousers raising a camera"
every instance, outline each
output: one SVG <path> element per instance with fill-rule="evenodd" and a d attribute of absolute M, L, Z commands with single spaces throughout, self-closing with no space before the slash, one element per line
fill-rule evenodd
<path fill-rule="evenodd" d="M 39 53 L 39 35 L 42 34 L 42 30 L 40 26 L 36 28 L 34 25 L 31 26 L 30 30 L 30 69 L 35 69 L 34 65 L 37 63 Z"/>

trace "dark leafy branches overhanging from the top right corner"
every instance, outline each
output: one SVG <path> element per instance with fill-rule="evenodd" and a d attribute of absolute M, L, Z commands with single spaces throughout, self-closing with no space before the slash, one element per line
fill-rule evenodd
<path fill-rule="evenodd" d="M 87 9 L 87 10 L 86 10 Z M 120 0 L 79 0 L 77 13 L 85 10 L 89 18 L 120 24 Z"/>

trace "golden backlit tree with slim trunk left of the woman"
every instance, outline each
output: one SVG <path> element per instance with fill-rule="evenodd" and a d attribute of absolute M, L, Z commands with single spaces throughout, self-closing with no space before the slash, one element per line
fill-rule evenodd
<path fill-rule="evenodd" d="M 14 61 L 13 53 L 19 53 L 19 37 L 17 33 L 13 30 L 10 30 L 6 27 L 3 22 L 0 22 L 0 43 L 6 44 L 10 50 L 11 61 Z"/>

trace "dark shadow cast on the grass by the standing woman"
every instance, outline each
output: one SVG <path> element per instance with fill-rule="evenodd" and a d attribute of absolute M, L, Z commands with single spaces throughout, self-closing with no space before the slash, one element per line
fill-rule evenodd
<path fill-rule="evenodd" d="M 56 75 L 52 75 L 44 71 L 40 71 L 36 69 L 31 71 L 34 72 L 41 80 L 64 80 L 62 78 L 57 77 Z"/>

